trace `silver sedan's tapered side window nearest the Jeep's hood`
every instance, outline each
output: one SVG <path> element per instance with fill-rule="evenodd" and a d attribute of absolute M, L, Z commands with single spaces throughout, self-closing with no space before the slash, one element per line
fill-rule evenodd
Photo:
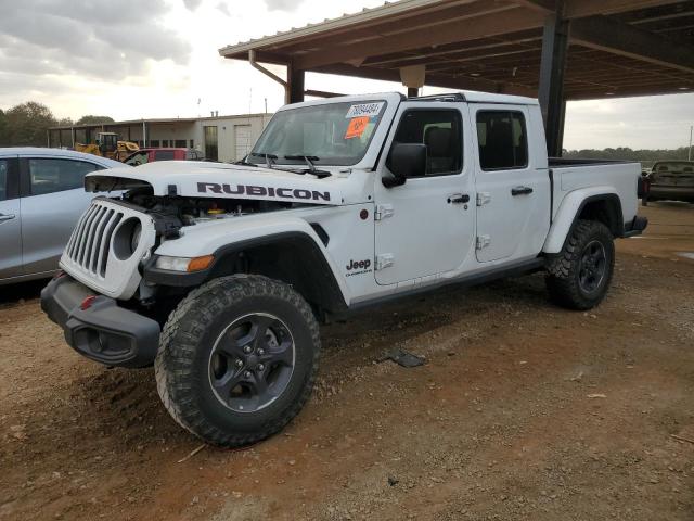
<path fill-rule="evenodd" d="M 29 160 L 31 195 L 62 192 L 85 186 L 85 176 L 102 167 L 86 161 Z"/>

